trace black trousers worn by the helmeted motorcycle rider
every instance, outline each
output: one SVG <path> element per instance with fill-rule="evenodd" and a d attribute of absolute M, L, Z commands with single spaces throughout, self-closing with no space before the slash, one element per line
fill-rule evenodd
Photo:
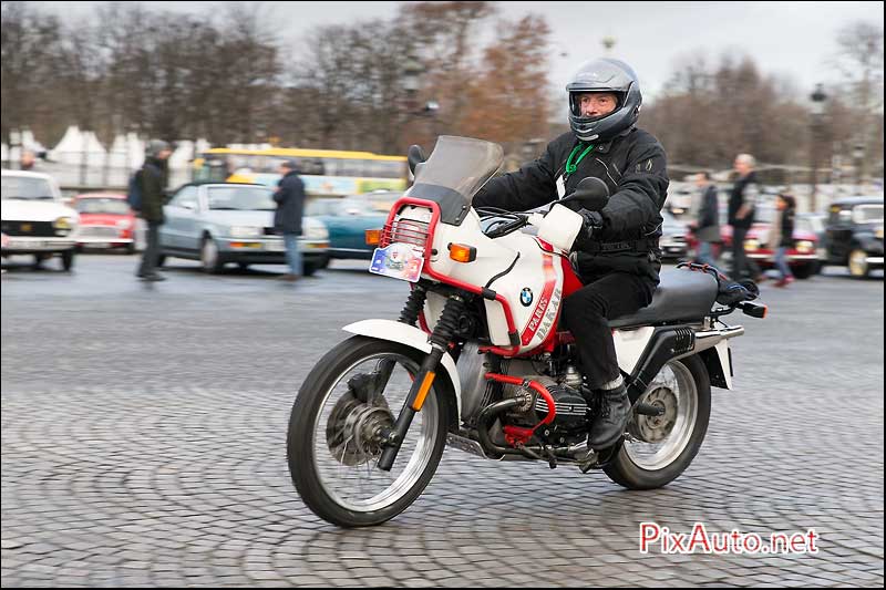
<path fill-rule="evenodd" d="M 650 277 L 612 272 L 591 280 L 563 302 L 564 321 L 575 337 L 581 372 L 591 389 L 621 374 L 609 320 L 648 306 L 656 287 Z"/>

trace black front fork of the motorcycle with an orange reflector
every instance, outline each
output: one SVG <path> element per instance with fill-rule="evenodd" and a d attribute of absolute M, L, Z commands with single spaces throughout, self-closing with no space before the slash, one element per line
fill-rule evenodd
<path fill-rule="evenodd" d="M 415 290 L 418 289 L 419 288 Z M 415 294 L 415 290 L 413 290 L 413 294 Z M 413 296 L 410 296 L 410 302 L 412 301 Z M 404 314 L 409 308 L 410 303 L 408 303 L 406 309 L 403 310 Z M 424 405 L 424 400 L 427 397 L 427 392 L 431 391 L 431 385 L 436 376 L 436 370 L 440 365 L 440 360 L 443 359 L 443 354 L 446 353 L 450 342 L 452 341 L 452 338 L 459 328 L 459 317 L 461 315 L 463 309 L 464 300 L 459 296 L 451 296 L 446 301 L 446 307 L 443 309 L 443 313 L 440 315 L 440 321 L 437 321 L 434 332 L 430 337 L 431 353 L 424 358 L 424 361 L 422 361 L 422 365 L 419 369 L 419 373 L 412 381 L 412 386 L 410 387 L 406 400 L 403 403 L 403 408 L 400 411 L 400 415 L 396 417 L 396 423 L 394 424 L 393 429 L 388 432 L 384 436 L 384 449 L 379 458 L 379 469 L 390 472 L 391 467 L 393 467 L 396 454 L 400 452 L 400 446 L 403 444 L 403 439 L 406 437 L 406 432 L 412 424 L 412 418 L 414 418 L 415 414 L 421 411 L 422 405 Z M 403 321 L 403 314 L 401 314 L 400 319 Z M 388 383 L 388 379 L 390 379 L 392 370 L 392 361 L 385 360 L 379 363 L 377 372 L 381 373 L 380 377 L 383 379 L 384 384 Z M 387 376 L 384 376 L 385 371 Z"/>

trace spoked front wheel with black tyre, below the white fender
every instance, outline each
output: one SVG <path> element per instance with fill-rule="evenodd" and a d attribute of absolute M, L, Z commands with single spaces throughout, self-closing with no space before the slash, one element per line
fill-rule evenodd
<path fill-rule="evenodd" d="M 353 337 L 311 371 L 289 420 L 289 474 L 305 504 L 342 527 L 379 525 L 405 510 L 431 480 L 446 445 L 450 398 L 439 377 L 393 468 L 377 468 L 383 437 L 405 403 L 423 354 Z M 393 364 L 383 383 L 385 365 Z"/>

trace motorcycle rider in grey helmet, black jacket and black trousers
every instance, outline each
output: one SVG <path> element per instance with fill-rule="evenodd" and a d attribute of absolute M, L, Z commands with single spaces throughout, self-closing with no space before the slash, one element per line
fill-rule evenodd
<path fill-rule="evenodd" d="M 596 176 L 607 184 L 611 197 L 602 210 L 568 204 L 584 217 L 571 257 L 584 287 L 563 307 L 588 384 L 583 394 L 599 404 L 588 445 L 601 449 L 619 439 L 630 417 L 608 320 L 652 300 L 669 179 L 661 144 L 635 125 L 642 95 L 629 65 L 608 58 L 587 62 L 566 91 L 571 131 L 552 141 L 538 159 L 491 179 L 473 206 L 524 211 L 563 198 L 583 178 Z"/>

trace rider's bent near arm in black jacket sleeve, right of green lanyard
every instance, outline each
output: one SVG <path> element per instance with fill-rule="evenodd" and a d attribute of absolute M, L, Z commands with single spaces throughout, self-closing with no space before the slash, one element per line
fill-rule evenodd
<path fill-rule="evenodd" d="M 655 137 L 638 138 L 628 153 L 618 190 L 601 211 L 607 230 L 639 229 L 658 215 L 670 182 L 666 164 L 664 149 Z"/>

